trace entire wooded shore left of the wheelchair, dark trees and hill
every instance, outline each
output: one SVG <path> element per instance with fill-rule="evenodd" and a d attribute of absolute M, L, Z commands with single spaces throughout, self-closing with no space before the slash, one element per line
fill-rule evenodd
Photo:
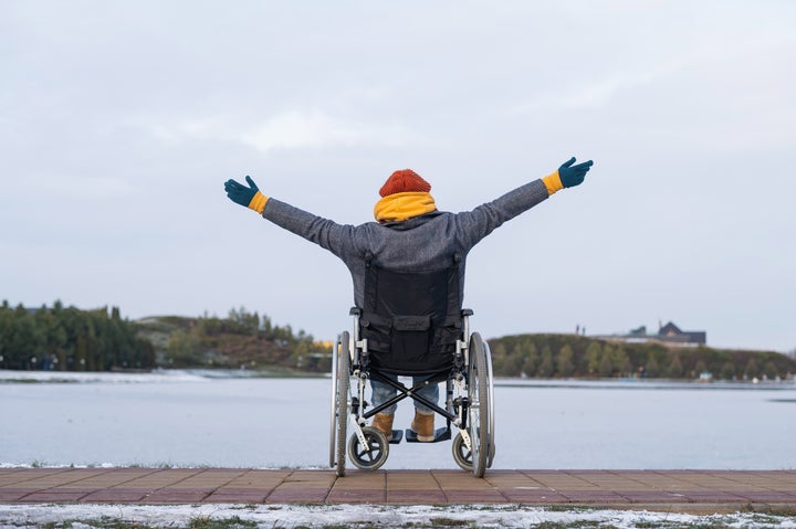
<path fill-rule="evenodd" d="M 232 309 L 226 318 L 123 319 L 118 307 L 81 310 L 0 306 L 0 369 L 54 371 L 283 366 L 310 371 L 328 363 L 311 335 L 268 316 Z"/>

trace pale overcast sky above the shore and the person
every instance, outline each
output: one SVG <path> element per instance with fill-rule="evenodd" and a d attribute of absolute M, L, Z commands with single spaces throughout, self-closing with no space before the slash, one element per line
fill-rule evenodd
<path fill-rule="evenodd" d="M 233 307 L 333 339 L 341 223 L 396 169 L 470 210 L 594 159 L 469 256 L 485 337 L 673 321 L 796 348 L 796 2 L 0 1 L 0 299 Z"/>

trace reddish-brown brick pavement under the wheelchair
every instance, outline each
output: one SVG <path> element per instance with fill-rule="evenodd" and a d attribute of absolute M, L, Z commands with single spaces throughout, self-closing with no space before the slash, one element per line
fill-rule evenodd
<path fill-rule="evenodd" d="M 796 512 L 796 470 L 0 468 L 0 504 L 532 504 Z"/>

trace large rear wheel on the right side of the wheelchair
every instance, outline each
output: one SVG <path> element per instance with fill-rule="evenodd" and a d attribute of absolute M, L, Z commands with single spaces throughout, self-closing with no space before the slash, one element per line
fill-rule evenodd
<path fill-rule="evenodd" d="M 470 337 L 470 366 L 468 368 L 469 432 L 472 444 L 472 473 L 483 477 L 490 459 L 490 369 L 486 348 L 481 335 Z"/>

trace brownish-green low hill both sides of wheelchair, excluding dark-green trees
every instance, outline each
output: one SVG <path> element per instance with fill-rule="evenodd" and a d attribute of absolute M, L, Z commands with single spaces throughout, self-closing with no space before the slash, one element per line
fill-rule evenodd
<path fill-rule="evenodd" d="M 331 343 L 268 317 L 235 313 L 228 319 L 177 316 L 137 321 L 164 367 L 327 371 Z M 722 380 L 788 379 L 796 359 L 774 351 L 631 343 L 579 335 L 534 334 L 488 340 L 498 377 L 639 377 Z"/>

